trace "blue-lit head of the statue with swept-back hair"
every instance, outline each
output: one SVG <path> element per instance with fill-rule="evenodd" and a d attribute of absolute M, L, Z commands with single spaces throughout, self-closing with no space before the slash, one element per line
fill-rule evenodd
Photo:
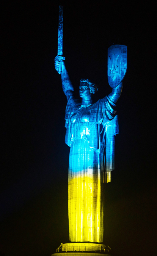
<path fill-rule="evenodd" d="M 98 85 L 91 82 L 89 79 L 81 79 L 79 89 L 80 97 L 88 98 L 89 95 L 97 92 Z"/>

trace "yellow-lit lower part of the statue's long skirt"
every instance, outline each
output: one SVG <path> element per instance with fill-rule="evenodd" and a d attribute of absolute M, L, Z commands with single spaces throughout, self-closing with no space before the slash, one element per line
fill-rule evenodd
<path fill-rule="evenodd" d="M 87 174 L 88 173 L 88 174 Z M 89 170 L 69 179 L 69 234 L 72 242 L 103 242 L 103 184 Z"/>

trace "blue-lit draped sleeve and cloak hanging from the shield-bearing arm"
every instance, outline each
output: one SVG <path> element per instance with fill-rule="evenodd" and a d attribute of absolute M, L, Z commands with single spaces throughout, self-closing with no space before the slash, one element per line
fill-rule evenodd
<path fill-rule="evenodd" d="M 103 149 L 107 173 L 115 169 L 115 135 L 119 133 L 115 103 L 121 90 L 122 84 L 114 88 L 108 96 L 98 100 L 93 105 L 89 119 L 89 147 L 97 153 L 101 153 Z"/>

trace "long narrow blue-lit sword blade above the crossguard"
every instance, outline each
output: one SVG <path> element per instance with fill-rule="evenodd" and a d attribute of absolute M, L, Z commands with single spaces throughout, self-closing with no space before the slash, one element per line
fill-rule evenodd
<path fill-rule="evenodd" d="M 59 7 L 58 55 L 63 55 L 63 6 Z"/>

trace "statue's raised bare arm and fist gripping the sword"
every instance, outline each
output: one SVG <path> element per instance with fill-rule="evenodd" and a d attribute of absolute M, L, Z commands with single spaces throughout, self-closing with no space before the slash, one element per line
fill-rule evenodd
<path fill-rule="evenodd" d="M 73 94 L 74 92 L 74 88 L 72 86 L 72 83 L 70 81 L 68 72 L 66 70 L 64 61 L 61 60 L 61 82 L 62 82 L 62 88 L 63 88 L 63 92 L 65 93 L 66 97 L 68 97 L 69 95 Z M 58 60 L 55 60 L 55 69 L 58 71 L 58 68 L 60 66 L 60 63 Z"/>

